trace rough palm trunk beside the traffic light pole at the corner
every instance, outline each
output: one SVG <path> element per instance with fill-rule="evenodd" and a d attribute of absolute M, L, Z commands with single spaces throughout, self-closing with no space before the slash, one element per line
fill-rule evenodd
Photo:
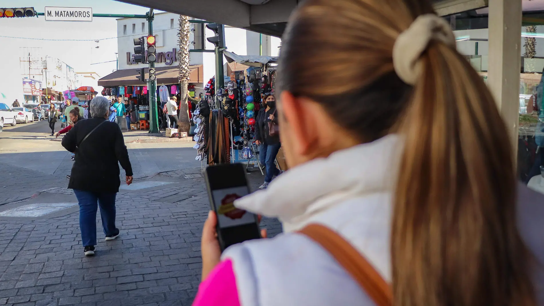
<path fill-rule="evenodd" d="M 190 33 L 189 17 L 180 15 L 180 30 L 178 36 L 178 52 L 177 60 L 180 68 L 180 116 L 178 117 L 178 126 L 180 132 L 189 133 L 191 127 L 189 121 L 189 108 L 187 106 L 187 86 L 189 85 L 189 77 L 191 70 L 189 69 L 189 33 Z"/>

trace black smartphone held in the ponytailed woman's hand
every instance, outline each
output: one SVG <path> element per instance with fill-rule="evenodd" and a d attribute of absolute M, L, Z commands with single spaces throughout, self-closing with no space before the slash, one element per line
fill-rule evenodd
<path fill-rule="evenodd" d="M 207 167 L 204 172 L 209 202 L 217 214 L 217 237 L 221 251 L 232 244 L 261 238 L 257 215 L 234 207 L 234 200 L 249 194 L 241 163 Z"/>

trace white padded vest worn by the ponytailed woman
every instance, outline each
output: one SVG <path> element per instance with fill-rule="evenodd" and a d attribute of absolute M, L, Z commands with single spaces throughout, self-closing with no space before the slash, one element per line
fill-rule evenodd
<path fill-rule="evenodd" d="M 391 281 L 391 205 L 402 148 L 395 135 L 357 145 L 290 169 L 267 189 L 237 200 L 237 207 L 279 218 L 284 230 L 225 250 L 222 258 L 233 262 L 240 304 L 373 305 L 329 253 L 293 231 L 309 223 L 326 225 Z M 526 187 L 520 197 L 526 197 L 519 205 L 520 231 L 544 262 L 544 197 Z M 544 284 L 543 276 L 536 271 L 537 284 Z M 544 291 L 540 285 L 537 290 L 544 305 Z"/>

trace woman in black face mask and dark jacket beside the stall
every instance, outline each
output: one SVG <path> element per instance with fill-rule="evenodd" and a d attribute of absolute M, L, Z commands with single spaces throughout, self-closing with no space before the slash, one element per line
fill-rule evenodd
<path fill-rule="evenodd" d="M 269 124 L 277 125 L 276 98 L 273 94 L 265 94 L 263 104 L 265 107 L 259 109 L 255 121 L 255 144 L 259 146 L 259 162 L 266 168 L 264 183 L 260 189 L 267 188 L 272 178 L 280 174 L 274 161 L 281 147 L 279 134 L 271 134 Z"/>

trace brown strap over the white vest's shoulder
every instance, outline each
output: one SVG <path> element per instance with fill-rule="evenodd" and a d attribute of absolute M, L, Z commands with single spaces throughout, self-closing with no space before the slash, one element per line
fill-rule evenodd
<path fill-rule="evenodd" d="M 319 224 L 309 224 L 299 231 L 320 244 L 367 292 L 377 306 L 391 306 L 391 287 L 351 244 L 335 231 Z"/>

